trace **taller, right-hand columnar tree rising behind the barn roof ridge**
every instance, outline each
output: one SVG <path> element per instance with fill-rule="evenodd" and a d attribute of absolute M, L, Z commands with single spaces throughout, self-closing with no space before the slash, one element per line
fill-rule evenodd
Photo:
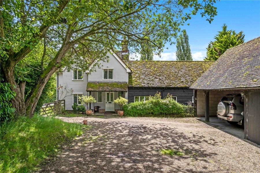
<path fill-rule="evenodd" d="M 177 38 L 176 44 L 176 60 L 177 61 L 192 61 L 192 54 L 190 51 L 189 36 L 186 30 L 182 31 L 183 34 Z"/>

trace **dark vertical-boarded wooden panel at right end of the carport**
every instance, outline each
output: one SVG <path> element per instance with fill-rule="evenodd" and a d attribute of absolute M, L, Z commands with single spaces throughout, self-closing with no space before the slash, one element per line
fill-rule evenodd
<path fill-rule="evenodd" d="M 260 91 L 248 93 L 247 139 L 260 145 Z"/>

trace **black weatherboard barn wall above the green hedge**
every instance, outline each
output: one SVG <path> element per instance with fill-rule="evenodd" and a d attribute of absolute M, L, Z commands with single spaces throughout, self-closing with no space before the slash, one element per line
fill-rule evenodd
<path fill-rule="evenodd" d="M 154 96 L 156 92 L 160 92 L 164 97 L 167 94 L 177 96 L 177 102 L 187 105 L 188 101 L 192 101 L 193 90 L 189 88 L 150 88 L 150 87 L 128 87 L 128 101 L 134 102 L 134 96 Z"/>

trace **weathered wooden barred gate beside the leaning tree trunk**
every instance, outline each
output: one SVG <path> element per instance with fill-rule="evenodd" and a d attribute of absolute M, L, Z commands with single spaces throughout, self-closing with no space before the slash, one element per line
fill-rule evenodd
<path fill-rule="evenodd" d="M 65 110 L 65 100 L 58 100 L 51 103 L 44 103 L 40 110 L 40 115 L 57 115 Z"/>

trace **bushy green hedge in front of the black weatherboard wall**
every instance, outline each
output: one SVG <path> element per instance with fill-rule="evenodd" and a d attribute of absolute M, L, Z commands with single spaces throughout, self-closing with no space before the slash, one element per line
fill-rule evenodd
<path fill-rule="evenodd" d="M 171 95 L 161 99 L 160 93 L 151 96 L 148 101 L 134 102 L 123 107 L 125 116 L 147 116 L 147 115 L 181 115 L 191 116 L 187 110 L 192 106 L 187 106 L 171 99 Z"/>

